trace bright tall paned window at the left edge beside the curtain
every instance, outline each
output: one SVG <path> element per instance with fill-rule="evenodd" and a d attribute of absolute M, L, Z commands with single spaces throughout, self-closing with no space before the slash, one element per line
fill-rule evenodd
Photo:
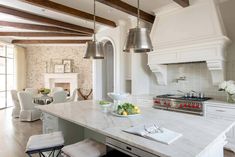
<path fill-rule="evenodd" d="M 0 45 L 0 109 L 12 106 L 10 91 L 14 89 L 13 47 Z"/>

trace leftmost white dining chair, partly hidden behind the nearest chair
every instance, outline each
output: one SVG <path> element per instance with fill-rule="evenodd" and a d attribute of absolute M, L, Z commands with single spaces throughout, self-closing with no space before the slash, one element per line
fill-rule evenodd
<path fill-rule="evenodd" d="M 11 90 L 11 98 L 13 101 L 13 110 L 12 110 L 12 117 L 18 118 L 20 116 L 20 102 L 17 96 L 16 90 Z"/>

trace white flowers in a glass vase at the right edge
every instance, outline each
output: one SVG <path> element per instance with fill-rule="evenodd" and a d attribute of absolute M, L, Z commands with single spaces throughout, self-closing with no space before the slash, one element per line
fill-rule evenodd
<path fill-rule="evenodd" d="M 235 84 L 234 81 L 224 81 L 219 84 L 219 91 L 225 91 L 227 93 L 227 102 L 235 103 L 233 95 L 235 94 Z"/>

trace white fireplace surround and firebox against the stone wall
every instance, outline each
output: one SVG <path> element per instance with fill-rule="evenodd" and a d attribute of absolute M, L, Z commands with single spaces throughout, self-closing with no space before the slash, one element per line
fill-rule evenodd
<path fill-rule="evenodd" d="M 78 73 L 47 73 L 44 74 L 46 88 L 62 87 L 65 91 L 73 93 L 78 88 Z"/>

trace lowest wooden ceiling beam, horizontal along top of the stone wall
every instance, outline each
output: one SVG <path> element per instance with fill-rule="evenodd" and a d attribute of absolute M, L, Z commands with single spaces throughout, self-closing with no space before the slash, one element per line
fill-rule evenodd
<path fill-rule="evenodd" d="M 90 40 L 12 40 L 12 44 L 85 44 Z"/>

